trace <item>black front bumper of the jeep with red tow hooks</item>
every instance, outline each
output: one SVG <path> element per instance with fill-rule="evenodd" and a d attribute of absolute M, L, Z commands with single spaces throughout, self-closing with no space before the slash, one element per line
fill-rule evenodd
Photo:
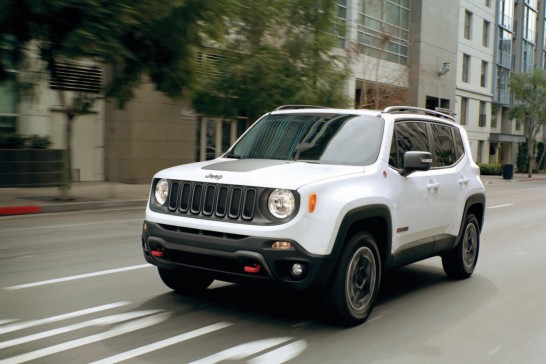
<path fill-rule="evenodd" d="M 330 256 L 307 253 L 295 241 L 293 249 L 276 250 L 277 241 L 144 222 L 142 249 L 146 261 L 158 267 L 184 267 L 235 283 L 274 283 L 301 290 L 325 285 L 332 272 Z M 302 267 L 292 274 L 294 264 Z"/>

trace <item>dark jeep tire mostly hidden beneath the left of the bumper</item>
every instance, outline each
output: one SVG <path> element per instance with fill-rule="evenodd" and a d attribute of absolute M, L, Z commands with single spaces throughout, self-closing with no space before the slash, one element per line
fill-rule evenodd
<path fill-rule="evenodd" d="M 214 280 L 212 277 L 186 269 L 157 268 L 161 280 L 177 293 L 188 294 L 204 291 Z"/>

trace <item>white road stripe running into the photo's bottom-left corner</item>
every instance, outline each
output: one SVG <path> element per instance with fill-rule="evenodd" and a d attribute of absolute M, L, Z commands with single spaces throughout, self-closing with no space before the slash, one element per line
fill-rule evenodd
<path fill-rule="evenodd" d="M 97 341 L 102 341 L 106 339 L 110 339 L 115 336 L 127 334 L 132 331 L 137 331 L 144 329 L 149 326 L 157 325 L 160 322 L 163 322 L 169 318 L 170 314 L 168 313 L 161 313 L 159 315 L 154 315 L 150 317 L 141 318 L 138 320 L 134 320 L 125 324 L 121 324 L 111 330 L 102 332 L 100 334 L 90 335 L 83 337 L 81 339 L 76 339 L 72 341 L 67 341 L 62 344 L 49 346 L 44 349 L 39 349 L 35 351 L 31 351 L 29 353 L 13 356 L 11 358 L 6 358 L 3 360 L 0 360 L 0 364 L 17 364 L 17 363 L 24 363 L 30 360 L 36 360 L 39 358 L 43 358 L 44 356 L 60 353 L 62 351 L 74 349 L 80 346 L 88 345 L 95 343 Z"/>

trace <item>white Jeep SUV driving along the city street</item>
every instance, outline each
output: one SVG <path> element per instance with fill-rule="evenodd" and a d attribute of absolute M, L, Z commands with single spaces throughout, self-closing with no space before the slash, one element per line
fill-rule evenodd
<path fill-rule="evenodd" d="M 284 106 L 221 157 L 158 172 L 142 248 L 171 289 L 214 279 L 324 293 L 366 320 L 388 269 L 476 266 L 485 189 L 465 130 L 435 111 Z"/>

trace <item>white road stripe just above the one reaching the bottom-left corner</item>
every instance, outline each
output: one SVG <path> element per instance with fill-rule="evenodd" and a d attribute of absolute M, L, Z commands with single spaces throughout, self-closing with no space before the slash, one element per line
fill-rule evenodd
<path fill-rule="evenodd" d="M 93 320 L 88 320 L 88 321 L 80 322 L 77 324 L 68 325 L 68 326 L 57 328 L 57 329 L 42 331 L 37 334 L 27 335 L 17 339 L 0 342 L 0 349 L 5 349 L 15 345 L 25 344 L 31 341 L 43 339 L 45 337 L 60 335 L 66 332 L 75 331 L 75 330 L 83 329 L 90 326 L 106 326 L 106 325 L 117 324 L 119 322 L 128 321 L 128 320 L 141 317 L 141 316 L 151 315 L 152 313 L 158 313 L 160 311 L 161 310 L 143 310 L 143 311 L 119 313 L 115 315 L 100 317 Z"/>

